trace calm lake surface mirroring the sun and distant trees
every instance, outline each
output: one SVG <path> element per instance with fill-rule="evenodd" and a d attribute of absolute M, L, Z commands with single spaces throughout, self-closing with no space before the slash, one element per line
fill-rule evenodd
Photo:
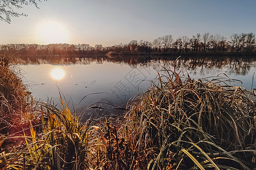
<path fill-rule="evenodd" d="M 36 99 L 60 102 L 61 94 L 72 112 L 89 117 L 125 112 L 127 101 L 142 94 L 158 72 L 175 70 L 196 79 L 238 79 L 236 86 L 256 87 L 256 57 L 230 56 L 20 56 L 23 80 Z M 177 59 L 178 58 L 178 59 Z"/>

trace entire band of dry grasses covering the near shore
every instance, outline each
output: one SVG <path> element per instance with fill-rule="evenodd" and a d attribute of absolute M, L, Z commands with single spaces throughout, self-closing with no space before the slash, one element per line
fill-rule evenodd
<path fill-rule="evenodd" d="M 255 96 L 232 80 L 166 70 L 130 101 L 121 125 L 81 124 L 61 95 L 62 109 L 34 101 L 10 57 L 0 63 L 2 169 L 256 167 Z"/>

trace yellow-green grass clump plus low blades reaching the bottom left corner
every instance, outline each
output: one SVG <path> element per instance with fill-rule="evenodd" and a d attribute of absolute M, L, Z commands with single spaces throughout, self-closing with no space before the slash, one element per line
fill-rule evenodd
<path fill-rule="evenodd" d="M 61 96 L 60 96 L 61 97 Z M 94 167 L 89 158 L 92 154 L 88 147 L 92 145 L 93 128 L 89 121 L 80 125 L 78 118 L 72 116 L 67 105 L 61 104 L 59 110 L 52 105 L 42 104 L 42 124 L 24 129 L 23 149 L 1 156 L 8 168 L 21 169 L 89 169 Z"/>

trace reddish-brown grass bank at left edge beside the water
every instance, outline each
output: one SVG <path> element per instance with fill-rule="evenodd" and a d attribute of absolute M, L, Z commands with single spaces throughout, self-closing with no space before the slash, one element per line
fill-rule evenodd
<path fill-rule="evenodd" d="M 13 60 L 12 56 L 0 55 L 0 133 L 7 133 L 10 128 L 18 130 L 31 112 L 32 96 Z"/>

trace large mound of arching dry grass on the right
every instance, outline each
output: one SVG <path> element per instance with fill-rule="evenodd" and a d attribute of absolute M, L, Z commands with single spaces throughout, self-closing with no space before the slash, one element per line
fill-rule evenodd
<path fill-rule="evenodd" d="M 220 76 L 202 81 L 170 70 L 159 74 L 125 116 L 125 139 L 137 158 L 132 165 L 254 168 L 255 101 L 250 92 L 229 84 Z"/>

